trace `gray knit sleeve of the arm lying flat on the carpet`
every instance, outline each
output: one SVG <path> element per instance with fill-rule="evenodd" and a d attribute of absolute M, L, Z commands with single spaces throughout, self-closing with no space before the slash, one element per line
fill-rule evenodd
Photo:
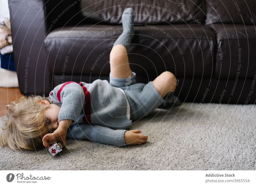
<path fill-rule="evenodd" d="M 79 123 L 69 127 L 67 138 L 91 140 L 96 143 L 105 143 L 114 146 L 126 146 L 124 133 L 127 130 L 111 129 L 100 125 Z"/>

